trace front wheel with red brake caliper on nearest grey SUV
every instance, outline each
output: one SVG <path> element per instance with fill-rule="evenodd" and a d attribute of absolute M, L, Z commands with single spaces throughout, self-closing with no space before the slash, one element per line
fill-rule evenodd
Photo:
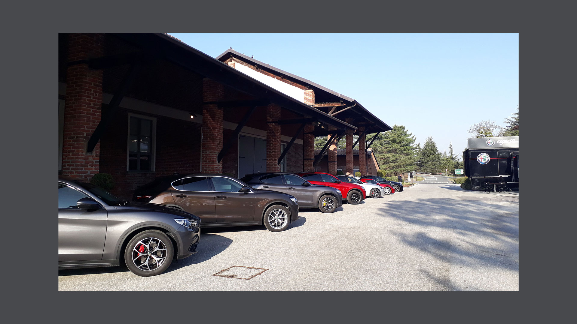
<path fill-rule="evenodd" d="M 124 251 L 126 266 L 141 277 L 163 273 L 173 262 L 173 257 L 173 242 L 157 229 L 138 233 L 128 242 Z"/>

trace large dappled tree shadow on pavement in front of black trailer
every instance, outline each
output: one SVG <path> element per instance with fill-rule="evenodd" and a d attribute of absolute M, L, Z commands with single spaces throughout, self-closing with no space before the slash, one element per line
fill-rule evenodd
<path fill-rule="evenodd" d="M 471 198 L 389 201 L 377 214 L 398 220 L 392 223 L 389 233 L 401 242 L 440 261 L 450 258 L 453 264 L 482 264 L 518 272 L 518 202 L 506 202 L 511 206 L 494 205 L 491 201 L 480 205 L 475 197 Z M 409 229 L 395 229 L 402 227 Z M 451 240 L 446 240 L 447 235 L 444 239 L 434 238 L 439 233 L 437 229 L 453 232 Z"/>

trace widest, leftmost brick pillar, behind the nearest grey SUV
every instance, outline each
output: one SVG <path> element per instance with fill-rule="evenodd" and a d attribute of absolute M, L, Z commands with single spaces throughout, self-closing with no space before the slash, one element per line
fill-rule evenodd
<path fill-rule="evenodd" d="M 70 34 L 68 62 L 103 55 L 101 34 Z M 100 141 L 88 153 L 87 144 L 102 115 L 102 70 L 87 64 L 66 70 L 66 97 L 62 143 L 62 174 L 89 180 L 100 169 Z"/>

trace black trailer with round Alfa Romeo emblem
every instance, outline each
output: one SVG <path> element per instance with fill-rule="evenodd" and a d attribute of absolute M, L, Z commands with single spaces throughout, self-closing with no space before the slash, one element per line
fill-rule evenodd
<path fill-rule="evenodd" d="M 473 190 L 519 190 L 519 136 L 469 138 L 464 173 Z"/>

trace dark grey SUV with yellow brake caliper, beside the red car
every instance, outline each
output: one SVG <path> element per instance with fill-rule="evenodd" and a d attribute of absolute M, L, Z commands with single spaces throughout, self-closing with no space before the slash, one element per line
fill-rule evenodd
<path fill-rule="evenodd" d="M 299 208 L 319 208 L 323 213 L 332 213 L 343 204 L 340 190 L 321 184 L 312 184 L 301 176 L 288 172 L 249 174 L 241 179 L 256 189 L 267 189 L 293 195 Z"/>

